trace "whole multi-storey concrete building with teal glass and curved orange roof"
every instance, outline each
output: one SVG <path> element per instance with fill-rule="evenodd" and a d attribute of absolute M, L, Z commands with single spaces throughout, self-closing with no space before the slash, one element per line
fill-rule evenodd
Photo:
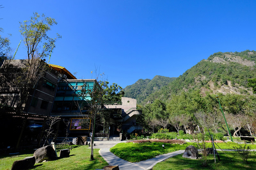
<path fill-rule="evenodd" d="M 17 74 L 19 69 L 27 67 L 26 60 L 12 60 L 11 64 L 13 65 L 11 74 Z M 101 88 L 98 82 L 95 79 L 76 79 L 64 67 L 47 64 L 43 60 L 38 61 L 38 65 L 43 65 L 46 69 L 33 82 L 33 86 L 28 88 L 28 98 L 22 103 L 22 113 L 0 109 L 0 128 L 7 129 L 1 131 L 1 136 L 8 139 L 1 141 L 2 147 L 11 145 L 18 148 L 26 144 L 39 146 L 43 141 L 43 132 L 47 128 L 45 124 L 50 116 L 60 116 L 64 119 L 64 122 L 55 125 L 59 136 L 65 137 L 67 127 L 64 127 L 64 124 L 70 120 L 71 122 L 68 124 L 70 137 L 89 135 L 91 131 L 90 123 L 87 128 L 75 126 L 76 121 L 82 120 L 81 118 L 87 115 L 87 110 L 80 111 L 79 109 L 86 104 L 85 100 L 79 97 L 79 92 L 84 85 Z M 5 81 L 3 77 L 10 77 L 10 79 Z M 16 107 L 20 101 L 19 88 L 11 82 L 12 76 L 0 72 L 0 78 L 2 80 L 0 104 Z M 13 78 L 17 79 L 17 76 Z M 87 101 L 89 101 L 88 98 Z M 122 131 L 132 133 L 134 130 L 142 129 L 142 126 L 136 123 L 136 116 L 142 113 L 142 109 L 136 107 L 136 102 L 135 99 L 122 97 L 121 102 L 106 102 L 101 106 L 101 110 L 109 113 L 110 136 L 117 135 Z M 39 125 L 39 128 L 29 128 L 32 124 Z M 96 127 L 96 131 L 106 131 L 100 121 L 98 124 L 100 125 Z"/>

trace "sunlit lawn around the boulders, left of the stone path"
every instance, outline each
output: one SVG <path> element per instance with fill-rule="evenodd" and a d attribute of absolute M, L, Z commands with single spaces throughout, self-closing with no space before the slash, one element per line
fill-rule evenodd
<path fill-rule="evenodd" d="M 57 155 L 59 156 L 60 149 L 66 149 L 67 147 L 57 148 Z M 70 146 L 68 146 L 70 148 Z M 35 170 L 53 170 L 53 169 L 72 169 L 72 170 L 94 170 L 102 169 L 107 166 L 108 163 L 100 156 L 99 149 L 93 149 L 94 160 L 90 161 L 91 149 L 87 149 L 88 146 L 76 145 L 72 150 L 68 158 L 59 158 L 54 161 L 48 161 L 44 163 L 36 163 L 34 165 Z M 26 152 L 20 152 L 20 154 L 15 155 L 1 155 L 0 156 L 0 169 L 8 170 L 11 169 L 12 163 L 15 160 L 21 160 L 29 156 L 33 156 L 34 150 L 27 150 Z"/>

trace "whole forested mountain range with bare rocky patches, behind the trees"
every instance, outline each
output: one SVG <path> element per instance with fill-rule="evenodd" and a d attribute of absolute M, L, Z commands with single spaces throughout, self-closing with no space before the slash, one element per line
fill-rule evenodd
<path fill-rule="evenodd" d="M 171 95 L 181 92 L 200 90 L 201 94 L 210 93 L 237 93 L 252 94 L 249 88 L 248 78 L 256 77 L 256 51 L 243 52 L 218 52 L 210 55 L 207 60 L 202 60 L 188 69 L 173 81 L 160 83 L 159 90 L 153 88 L 152 80 L 138 80 L 135 84 L 125 87 L 125 97 L 138 100 L 138 103 L 151 103 L 155 99 L 167 100 Z M 161 76 L 159 76 L 161 77 Z M 156 78 L 156 77 L 155 77 Z"/>

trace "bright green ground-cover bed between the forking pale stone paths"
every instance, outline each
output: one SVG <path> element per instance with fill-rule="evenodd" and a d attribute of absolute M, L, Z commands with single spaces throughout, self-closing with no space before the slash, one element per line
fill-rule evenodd
<path fill-rule="evenodd" d="M 163 149 L 162 144 L 164 144 L 165 149 Z M 110 148 L 110 152 L 114 153 L 121 159 L 127 160 L 129 162 L 140 162 L 142 160 L 147 160 L 154 158 L 158 155 L 174 152 L 178 150 L 185 150 L 188 145 L 197 146 L 195 143 L 180 144 L 167 144 L 167 143 L 119 143 L 114 147 Z M 218 143 L 221 149 L 234 149 L 236 143 Z M 242 144 L 243 145 L 243 144 Z M 256 149 L 256 145 L 250 145 L 251 149 Z M 206 143 L 206 147 L 212 147 L 211 143 Z M 216 146 L 216 149 L 219 149 Z"/>

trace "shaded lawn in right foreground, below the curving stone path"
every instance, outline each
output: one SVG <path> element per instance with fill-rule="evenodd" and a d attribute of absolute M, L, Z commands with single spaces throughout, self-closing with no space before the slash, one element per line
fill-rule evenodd
<path fill-rule="evenodd" d="M 244 161 L 238 157 L 235 152 L 225 152 L 228 157 L 221 151 L 218 151 L 220 154 L 220 161 L 216 157 L 216 164 L 214 163 L 214 158 L 212 155 L 208 156 L 208 166 L 202 167 L 201 162 L 198 159 L 187 159 L 183 158 L 182 154 L 175 157 L 166 159 L 163 162 L 157 163 L 153 170 L 203 170 L 203 169 L 218 169 L 218 170 L 244 170 L 244 169 L 255 169 L 256 167 L 256 156 L 252 152 L 252 155 L 248 159 L 248 164 L 245 164 Z"/>

